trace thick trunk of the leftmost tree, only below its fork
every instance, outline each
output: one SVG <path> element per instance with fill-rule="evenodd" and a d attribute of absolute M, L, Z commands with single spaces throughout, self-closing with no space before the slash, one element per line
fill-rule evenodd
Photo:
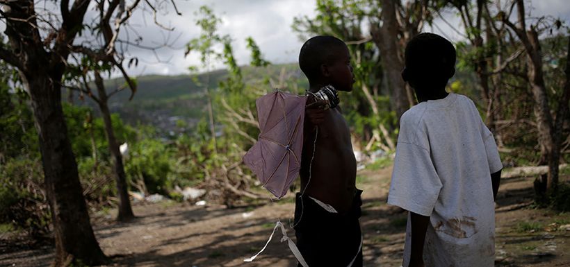
<path fill-rule="evenodd" d="M 33 60 L 31 60 L 33 62 Z M 90 225 L 89 214 L 67 126 L 63 119 L 61 75 L 41 71 L 44 64 L 22 75 L 31 97 L 35 126 L 38 128 L 40 152 L 45 176 L 45 190 L 54 223 L 56 257 L 53 266 L 73 263 L 104 264 L 107 259 L 99 248 Z"/>

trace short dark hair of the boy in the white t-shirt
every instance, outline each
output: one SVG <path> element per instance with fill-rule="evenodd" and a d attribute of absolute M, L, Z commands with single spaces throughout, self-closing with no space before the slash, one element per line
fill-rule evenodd
<path fill-rule="evenodd" d="M 412 38 L 405 49 L 407 76 L 419 74 L 450 78 L 448 70 L 455 67 L 455 47 L 434 33 L 420 33 Z M 443 75 L 443 77 L 442 77 Z M 452 74 L 453 75 L 453 74 Z"/>

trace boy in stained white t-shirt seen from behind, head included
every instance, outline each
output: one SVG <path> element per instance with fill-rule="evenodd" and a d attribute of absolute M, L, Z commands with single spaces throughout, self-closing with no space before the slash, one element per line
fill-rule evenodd
<path fill-rule="evenodd" d="M 402 78 L 418 105 L 400 119 L 388 197 L 409 211 L 404 267 L 494 266 L 500 162 L 473 101 L 446 92 L 453 44 L 421 33 L 405 49 Z"/>

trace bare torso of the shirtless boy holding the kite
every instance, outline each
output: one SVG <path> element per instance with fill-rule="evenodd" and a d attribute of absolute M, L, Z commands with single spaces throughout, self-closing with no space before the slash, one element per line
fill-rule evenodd
<path fill-rule="evenodd" d="M 301 157 L 301 189 L 337 212 L 347 212 L 355 197 L 356 159 L 352 152 L 350 130 L 339 107 L 325 110 L 323 123 L 316 128 L 305 128 Z M 318 132 L 316 146 L 315 135 Z M 313 157 L 314 150 L 314 157 Z"/>

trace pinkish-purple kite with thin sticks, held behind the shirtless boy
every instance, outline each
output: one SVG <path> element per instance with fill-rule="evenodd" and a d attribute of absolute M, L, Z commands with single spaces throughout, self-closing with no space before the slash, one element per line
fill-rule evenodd
<path fill-rule="evenodd" d="M 285 196 L 301 168 L 306 96 L 273 92 L 255 101 L 259 139 L 243 156 L 263 187 Z"/>

